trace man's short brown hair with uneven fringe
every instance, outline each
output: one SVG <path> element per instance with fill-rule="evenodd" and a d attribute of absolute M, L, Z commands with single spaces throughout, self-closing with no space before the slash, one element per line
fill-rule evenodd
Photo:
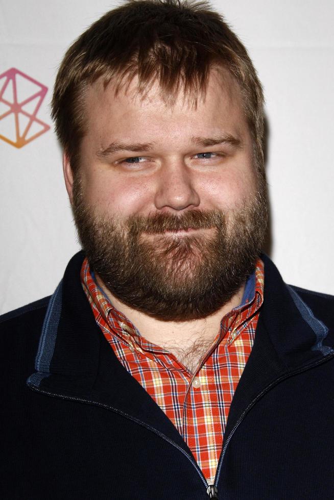
<path fill-rule="evenodd" d="M 139 88 L 158 81 L 169 93 L 205 91 L 212 66 L 226 68 L 238 82 L 263 171 L 264 98 L 246 48 L 207 2 L 127 0 L 94 22 L 68 49 L 60 65 L 52 117 L 74 172 L 85 133 L 84 96 L 99 77 L 117 85 L 138 76 Z"/>

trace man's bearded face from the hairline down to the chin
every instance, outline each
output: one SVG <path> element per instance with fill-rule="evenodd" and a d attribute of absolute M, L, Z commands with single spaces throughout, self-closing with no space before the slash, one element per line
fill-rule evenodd
<path fill-rule="evenodd" d="M 181 91 L 171 104 L 158 85 L 115 96 L 98 81 L 86 105 L 73 201 L 91 266 L 154 317 L 218 310 L 251 272 L 267 216 L 234 80 L 212 73 L 196 107 Z"/>

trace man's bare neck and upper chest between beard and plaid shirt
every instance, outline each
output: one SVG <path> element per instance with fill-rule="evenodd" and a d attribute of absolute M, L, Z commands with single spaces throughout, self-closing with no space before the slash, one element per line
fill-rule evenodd
<path fill-rule="evenodd" d="M 206 318 L 162 321 L 123 304 L 110 293 L 98 275 L 96 279 L 111 304 L 132 322 L 146 340 L 174 354 L 190 372 L 196 371 L 220 332 L 222 318 L 240 305 L 245 290 L 243 284 L 228 303 Z"/>

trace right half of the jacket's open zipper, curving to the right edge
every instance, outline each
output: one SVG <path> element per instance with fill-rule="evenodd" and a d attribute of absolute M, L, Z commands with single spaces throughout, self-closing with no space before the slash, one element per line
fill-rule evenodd
<path fill-rule="evenodd" d="M 220 472 L 221 472 L 221 469 L 222 469 L 223 460 L 224 460 L 224 456 L 225 456 L 225 453 L 226 453 L 226 448 L 228 446 L 228 443 L 232 439 L 233 434 L 235 433 L 236 429 L 240 426 L 241 422 L 244 420 L 244 418 L 247 415 L 247 413 L 253 408 L 253 406 L 258 402 L 258 400 L 262 396 L 264 396 L 267 392 L 269 392 L 275 385 L 278 385 L 283 380 L 289 379 L 290 377 L 293 377 L 293 376 L 295 376 L 295 375 L 297 375 L 299 373 L 302 373 L 303 371 L 307 371 L 307 370 L 309 370 L 311 368 L 314 368 L 315 366 L 318 366 L 318 365 L 320 365 L 322 363 L 325 363 L 327 360 L 329 360 L 330 358 L 333 358 L 333 357 L 334 357 L 334 352 L 331 352 L 329 355 L 325 356 L 324 358 L 320 359 L 319 361 L 317 361 L 315 363 L 303 366 L 303 367 L 298 368 L 298 369 L 296 369 L 294 371 L 290 371 L 289 373 L 285 373 L 284 375 L 282 375 L 281 377 L 279 377 L 278 379 L 276 379 L 275 381 L 273 381 L 271 384 L 269 384 L 261 392 L 259 392 L 256 397 L 254 397 L 253 401 L 247 406 L 247 408 L 243 411 L 243 413 L 237 419 L 237 421 L 236 421 L 233 429 L 231 430 L 231 432 L 228 435 L 228 438 L 226 439 L 226 441 L 224 441 L 223 450 L 222 450 L 222 453 L 221 453 L 221 456 L 220 456 L 219 462 L 218 462 L 218 467 L 217 467 L 217 471 L 216 471 L 216 477 L 214 478 L 214 483 L 213 483 L 213 485 L 216 487 L 216 489 L 218 487 L 219 476 L 220 476 Z M 214 497 L 213 496 L 212 498 L 218 498 L 218 497 Z"/>

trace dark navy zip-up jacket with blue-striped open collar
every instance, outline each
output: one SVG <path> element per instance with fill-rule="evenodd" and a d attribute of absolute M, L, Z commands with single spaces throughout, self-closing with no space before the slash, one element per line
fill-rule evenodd
<path fill-rule="evenodd" d="M 0 498 L 334 498 L 333 297 L 285 285 L 263 257 L 264 304 L 208 489 L 97 326 L 82 259 L 51 298 L 1 318 Z"/>

